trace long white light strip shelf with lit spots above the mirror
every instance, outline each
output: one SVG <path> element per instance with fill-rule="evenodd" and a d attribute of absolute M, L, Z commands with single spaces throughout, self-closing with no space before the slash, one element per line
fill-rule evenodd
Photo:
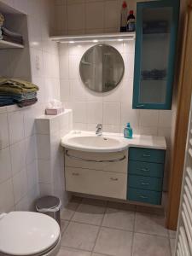
<path fill-rule="evenodd" d="M 130 41 L 135 40 L 135 32 L 121 32 L 121 33 L 105 33 L 105 34 L 94 34 L 94 35 L 78 35 L 78 36 L 55 36 L 50 37 L 52 41 L 57 43 L 101 43 L 103 41 Z"/>

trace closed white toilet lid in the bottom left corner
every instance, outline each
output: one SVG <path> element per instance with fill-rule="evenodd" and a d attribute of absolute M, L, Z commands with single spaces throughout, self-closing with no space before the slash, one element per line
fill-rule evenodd
<path fill-rule="evenodd" d="M 54 218 L 38 212 L 9 212 L 0 219 L 0 252 L 32 255 L 52 247 L 60 237 Z"/>

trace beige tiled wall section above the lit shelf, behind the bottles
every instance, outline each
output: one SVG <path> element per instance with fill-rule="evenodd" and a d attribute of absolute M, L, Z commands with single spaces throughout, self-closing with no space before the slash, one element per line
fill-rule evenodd
<path fill-rule="evenodd" d="M 136 0 L 127 0 L 136 10 Z M 56 0 L 55 34 L 119 32 L 123 0 Z"/>

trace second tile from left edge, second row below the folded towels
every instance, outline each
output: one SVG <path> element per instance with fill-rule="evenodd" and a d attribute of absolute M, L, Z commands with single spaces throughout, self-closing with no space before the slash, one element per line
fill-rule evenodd
<path fill-rule="evenodd" d="M 11 155 L 11 166 L 12 173 L 22 171 L 26 166 L 26 146 L 25 141 L 21 141 L 20 143 L 15 143 L 10 146 L 10 155 Z"/>

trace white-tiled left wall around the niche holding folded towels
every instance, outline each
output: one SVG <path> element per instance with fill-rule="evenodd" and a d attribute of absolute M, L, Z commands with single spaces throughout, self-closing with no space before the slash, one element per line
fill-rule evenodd
<path fill-rule="evenodd" d="M 1 50 L 0 75 L 32 79 L 40 88 L 34 106 L 0 108 L 0 212 L 8 212 L 31 209 L 39 195 L 34 119 L 43 113 L 50 98 L 60 97 L 60 81 L 57 45 L 49 41 L 53 1 L 4 0 L 3 3 L 28 15 L 29 47 L 26 42 L 20 52 Z M 28 60 L 26 51 L 30 53 Z"/>

